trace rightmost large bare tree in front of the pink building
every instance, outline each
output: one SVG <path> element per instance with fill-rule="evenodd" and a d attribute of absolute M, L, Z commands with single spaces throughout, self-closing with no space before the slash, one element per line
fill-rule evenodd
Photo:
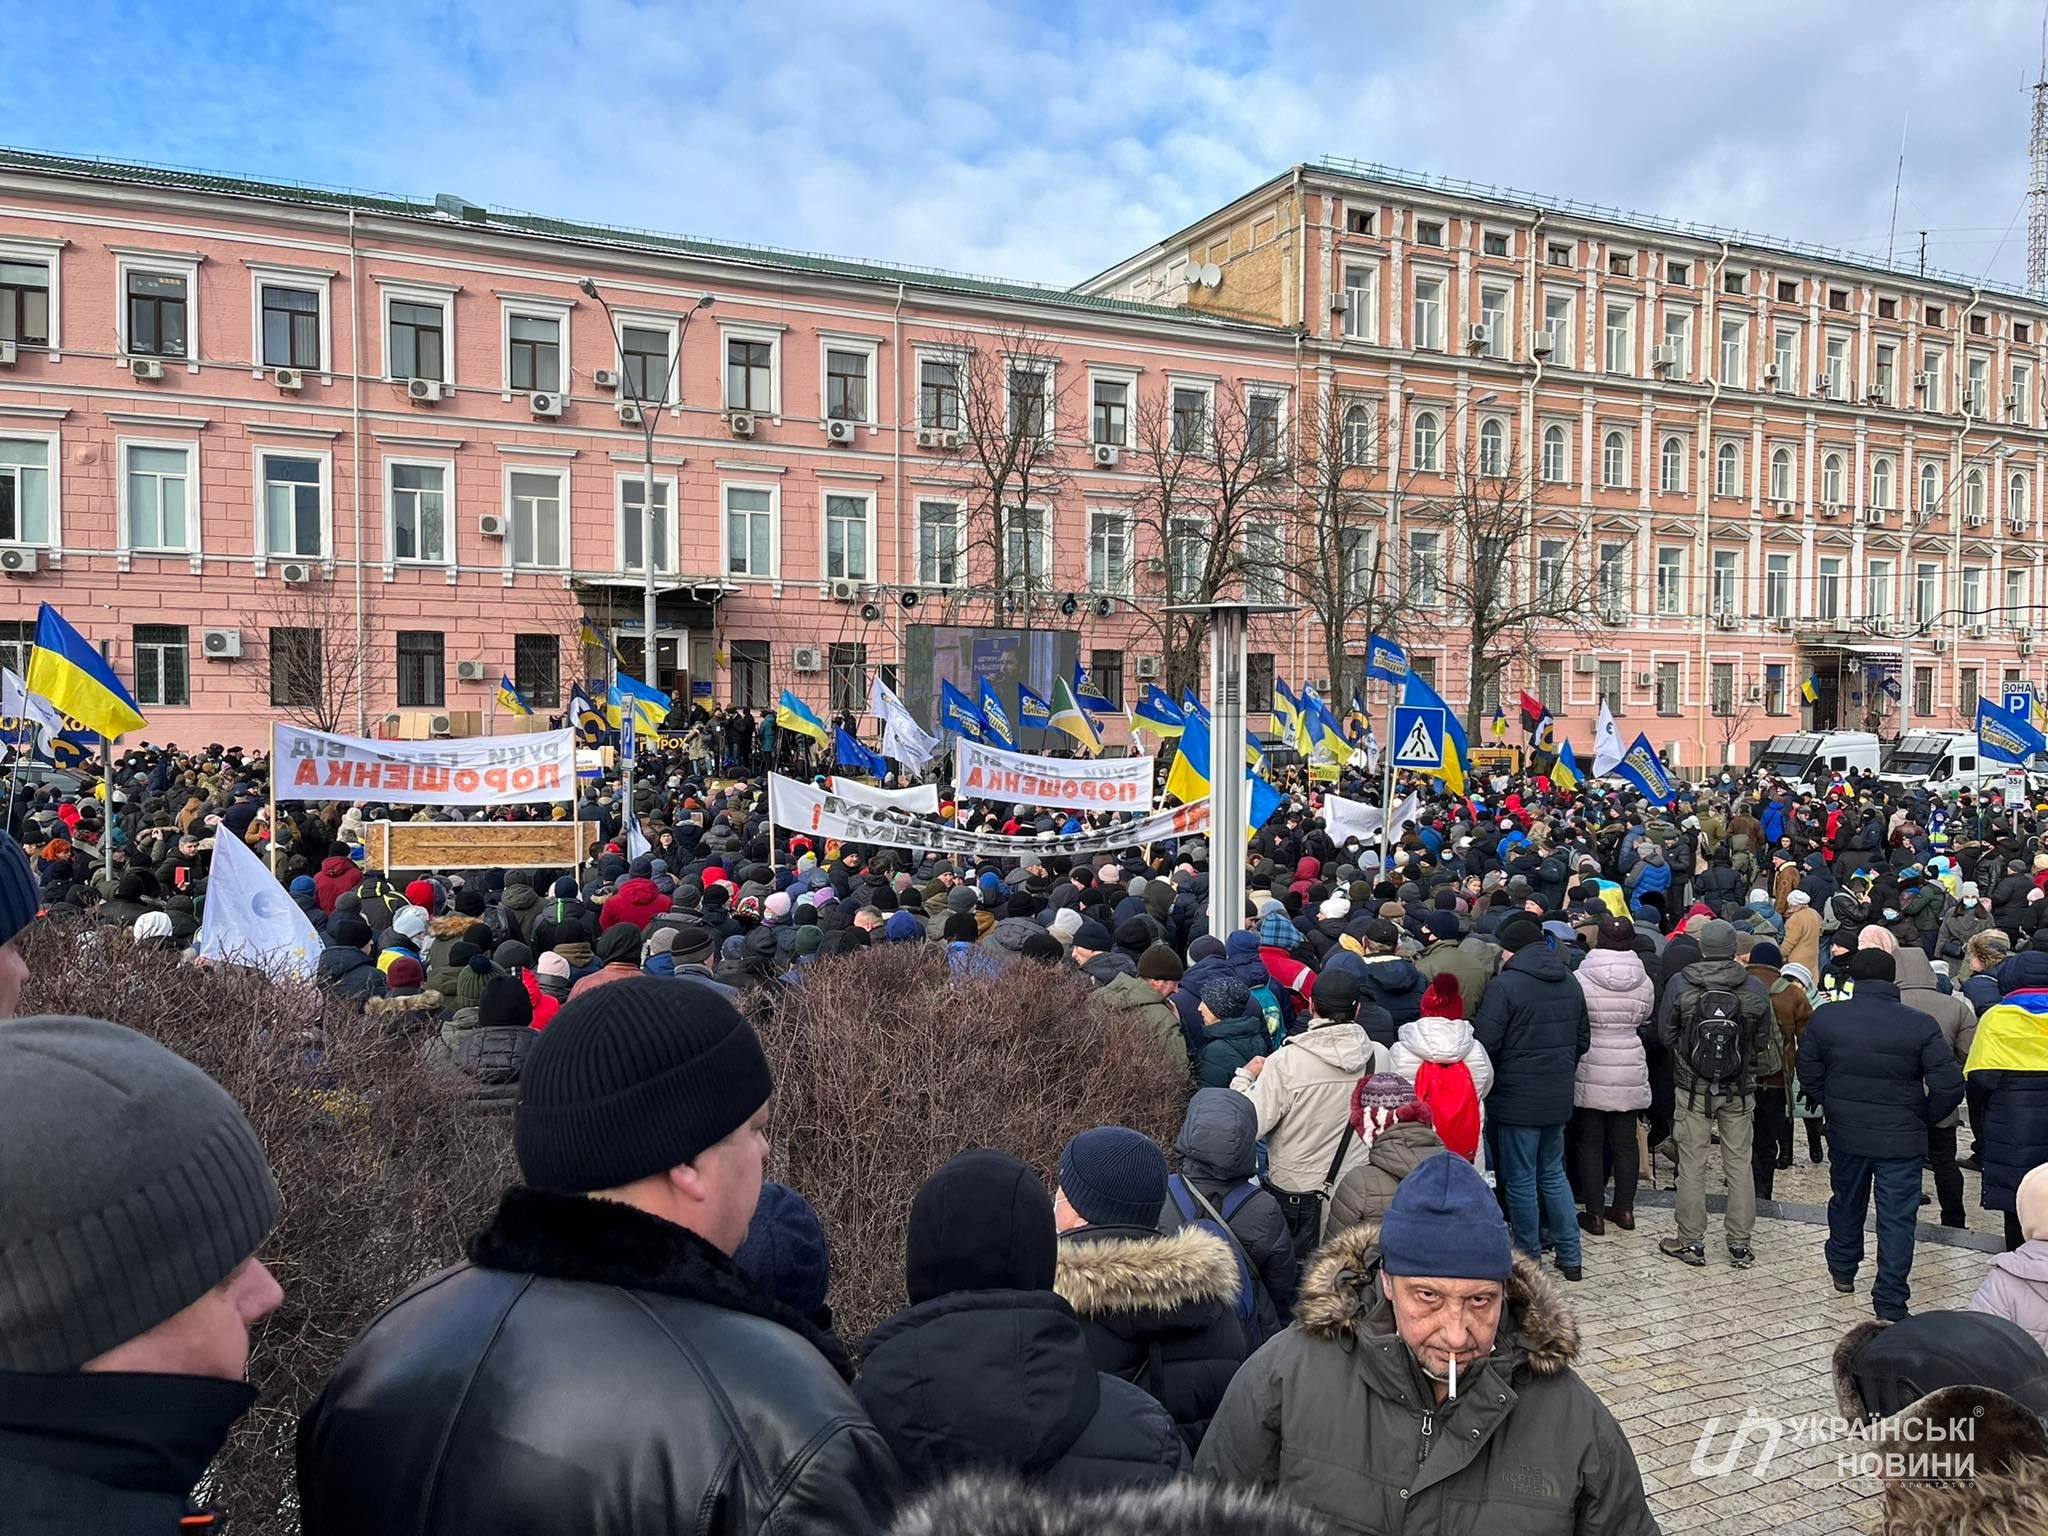
<path fill-rule="evenodd" d="M 1409 532 L 1434 530 L 1438 549 L 1432 557 L 1411 545 L 1407 600 L 1417 621 L 1423 610 L 1440 610 L 1446 627 L 1464 627 L 1470 668 L 1464 729 L 1477 737 L 1485 700 L 1509 666 L 1534 659 L 1538 639 L 1554 645 L 1559 631 L 1593 631 L 1604 602 L 1626 602 L 1626 582 L 1579 559 L 1577 539 L 1567 541 L 1556 561 L 1534 559 L 1548 508 L 1534 475 L 1501 438 L 1452 459 L 1448 469 L 1450 487 L 1409 512 Z"/>

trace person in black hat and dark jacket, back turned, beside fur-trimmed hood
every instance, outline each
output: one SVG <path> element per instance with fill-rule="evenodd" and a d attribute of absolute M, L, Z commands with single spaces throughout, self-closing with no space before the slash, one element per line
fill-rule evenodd
<path fill-rule="evenodd" d="M 907 1489 L 1004 1473 L 1083 1493 L 1188 1466 L 1167 1411 L 1096 1370 L 1053 1294 L 1053 1200 L 1016 1157 L 965 1151 L 928 1178 L 903 1262 L 911 1305 L 868 1337 L 854 1395 Z"/>

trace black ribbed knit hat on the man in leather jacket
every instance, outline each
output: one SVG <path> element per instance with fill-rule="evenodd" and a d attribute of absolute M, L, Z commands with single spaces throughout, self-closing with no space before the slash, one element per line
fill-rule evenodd
<path fill-rule="evenodd" d="M 535 1042 L 512 1151 L 539 1190 L 616 1190 L 694 1161 L 772 1092 L 754 1026 L 725 997 L 623 977 L 567 1004 Z"/>

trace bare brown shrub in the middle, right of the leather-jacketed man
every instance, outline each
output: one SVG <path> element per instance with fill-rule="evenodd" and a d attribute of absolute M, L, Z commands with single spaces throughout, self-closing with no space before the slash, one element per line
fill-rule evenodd
<path fill-rule="evenodd" d="M 967 1147 L 1051 1180 L 1096 1124 L 1169 1145 L 1188 1104 L 1157 1038 L 1071 971 L 1020 963 L 952 979 L 936 946 L 887 944 L 821 965 L 762 1018 L 776 1069 L 774 1178 L 831 1239 L 836 1327 L 858 1346 L 903 1307 L 918 1186 Z"/>

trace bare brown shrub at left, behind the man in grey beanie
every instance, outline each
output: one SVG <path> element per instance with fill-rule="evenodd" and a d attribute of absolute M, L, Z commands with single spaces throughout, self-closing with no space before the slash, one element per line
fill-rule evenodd
<path fill-rule="evenodd" d="M 207 1475 L 238 1532 L 295 1532 L 293 1436 L 348 1343 L 463 1245 L 516 1180 L 510 1122 L 467 1114 L 414 1040 L 305 985 L 180 965 L 123 934 L 29 930 L 25 1012 L 141 1030 L 242 1104 L 285 1196 L 260 1249 L 285 1303 L 258 1323 L 260 1397 Z"/>

